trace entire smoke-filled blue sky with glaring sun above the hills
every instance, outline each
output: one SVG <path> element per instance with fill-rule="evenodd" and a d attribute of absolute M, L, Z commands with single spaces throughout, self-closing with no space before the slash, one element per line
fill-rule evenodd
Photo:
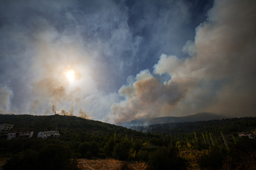
<path fill-rule="evenodd" d="M 256 116 L 255 21 L 254 0 L 1 0 L 0 113 Z"/>

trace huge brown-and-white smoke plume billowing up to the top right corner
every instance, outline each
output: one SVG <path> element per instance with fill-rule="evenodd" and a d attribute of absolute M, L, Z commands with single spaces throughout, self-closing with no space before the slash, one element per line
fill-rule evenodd
<path fill-rule="evenodd" d="M 207 21 L 187 41 L 186 59 L 162 54 L 154 74 L 141 71 L 119 90 L 106 120 L 123 123 L 142 117 L 214 112 L 255 116 L 256 1 L 216 0 Z M 171 77 L 161 82 L 163 74 Z"/>

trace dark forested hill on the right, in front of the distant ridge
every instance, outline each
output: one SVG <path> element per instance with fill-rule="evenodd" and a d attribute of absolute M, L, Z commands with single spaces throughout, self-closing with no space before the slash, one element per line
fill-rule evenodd
<path fill-rule="evenodd" d="M 203 131 L 222 131 L 224 134 L 246 132 L 256 128 L 256 117 L 228 118 L 222 120 L 208 120 L 196 122 L 176 122 L 153 124 L 149 126 L 136 126 L 136 130 L 166 135 L 176 133 L 191 133 Z"/>

